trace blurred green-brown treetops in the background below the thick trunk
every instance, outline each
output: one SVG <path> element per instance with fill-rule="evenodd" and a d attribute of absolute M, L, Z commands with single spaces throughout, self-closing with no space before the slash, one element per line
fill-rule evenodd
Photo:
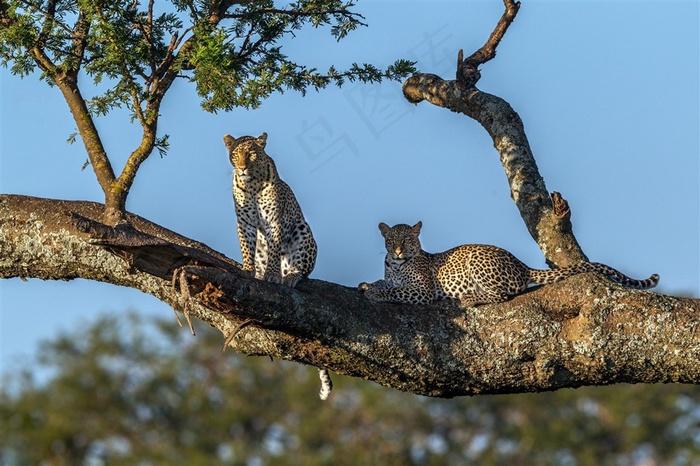
<path fill-rule="evenodd" d="M 700 387 L 430 399 L 102 317 L 3 375 L 0 464 L 698 465 Z M 34 369 L 34 368 L 32 368 Z"/>

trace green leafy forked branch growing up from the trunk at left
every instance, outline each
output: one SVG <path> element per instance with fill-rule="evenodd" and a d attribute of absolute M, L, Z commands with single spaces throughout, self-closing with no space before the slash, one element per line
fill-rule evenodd
<path fill-rule="evenodd" d="M 328 26 L 336 40 L 366 26 L 353 6 L 338 0 L 297 0 L 286 7 L 272 0 L 0 0 L 0 64 L 20 77 L 38 67 L 41 79 L 59 87 L 105 193 L 105 221 L 113 224 L 123 217 L 141 164 L 154 149 L 161 156 L 167 151 L 158 119 L 175 79 L 193 82 L 202 107 L 217 112 L 258 107 L 275 92 L 397 80 L 414 72 L 412 62 L 399 60 L 386 70 L 353 63 L 320 73 L 282 52 L 281 40 L 306 25 Z M 92 79 L 94 95 L 83 96 L 81 71 Z M 117 108 L 130 109 L 143 128 L 119 176 L 94 123 Z"/>

